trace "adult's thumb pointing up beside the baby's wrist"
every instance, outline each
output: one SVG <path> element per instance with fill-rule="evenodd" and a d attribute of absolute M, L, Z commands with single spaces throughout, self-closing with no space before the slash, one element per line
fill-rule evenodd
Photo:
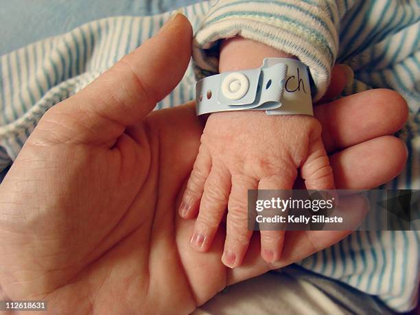
<path fill-rule="evenodd" d="M 183 78 L 191 57 L 191 37 L 188 19 L 174 14 L 156 36 L 48 110 L 40 124 L 54 123 L 55 140 L 62 135 L 67 143 L 112 143 Z"/>

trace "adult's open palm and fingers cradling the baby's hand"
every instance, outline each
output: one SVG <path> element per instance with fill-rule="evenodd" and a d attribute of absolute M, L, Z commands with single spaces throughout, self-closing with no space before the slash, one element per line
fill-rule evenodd
<path fill-rule="evenodd" d="M 45 299 L 54 314 L 189 313 L 273 267 L 257 240 L 242 267 L 224 267 L 222 229 L 209 253 L 196 253 L 194 221 L 176 216 L 202 126 L 192 104 L 148 113 L 182 78 L 190 43 L 178 15 L 40 120 L 0 186 L 2 300 Z M 316 116 L 338 188 L 375 187 L 403 167 L 404 144 L 386 136 L 406 116 L 396 93 L 346 97 Z M 276 267 L 345 235 L 290 232 Z"/>

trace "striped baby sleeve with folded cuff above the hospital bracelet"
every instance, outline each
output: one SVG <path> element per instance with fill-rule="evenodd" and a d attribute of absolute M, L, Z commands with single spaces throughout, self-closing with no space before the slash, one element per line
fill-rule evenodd
<path fill-rule="evenodd" d="M 310 67 L 314 100 L 327 90 L 340 18 L 355 0 L 213 1 L 194 36 L 198 79 L 218 72 L 218 43 L 242 36 L 297 56 Z"/>

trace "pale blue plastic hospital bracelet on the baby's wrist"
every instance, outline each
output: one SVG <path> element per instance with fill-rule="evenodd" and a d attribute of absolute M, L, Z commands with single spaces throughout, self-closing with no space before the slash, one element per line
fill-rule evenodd
<path fill-rule="evenodd" d="M 211 75 L 196 84 L 197 115 L 265 110 L 267 115 L 314 115 L 307 67 L 295 59 L 265 58 L 257 69 Z"/>

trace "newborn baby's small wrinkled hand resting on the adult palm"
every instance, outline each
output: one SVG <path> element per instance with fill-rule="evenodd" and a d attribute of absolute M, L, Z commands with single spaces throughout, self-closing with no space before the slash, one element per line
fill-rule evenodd
<path fill-rule="evenodd" d="M 261 52 L 252 59 L 245 52 L 250 44 L 254 54 Z M 221 71 L 223 60 L 229 70 L 237 70 L 259 67 L 266 57 L 285 56 L 243 38 L 228 45 L 221 51 Z M 229 60 L 231 49 L 244 51 L 241 58 L 235 54 L 241 64 Z M 307 189 L 334 189 L 321 126 L 314 117 L 252 110 L 211 114 L 179 210 L 183 218 L 198 213 L 191 246 L 209 250 L 227 209 L 222 261 L 231 268 L 240 266 L 253 233 L 248 231 L 248 189 L 292 189 L 298 169 Z M 284 231 L 260 233 L 261 256 L 269 263 L 278 261 Z"/>

